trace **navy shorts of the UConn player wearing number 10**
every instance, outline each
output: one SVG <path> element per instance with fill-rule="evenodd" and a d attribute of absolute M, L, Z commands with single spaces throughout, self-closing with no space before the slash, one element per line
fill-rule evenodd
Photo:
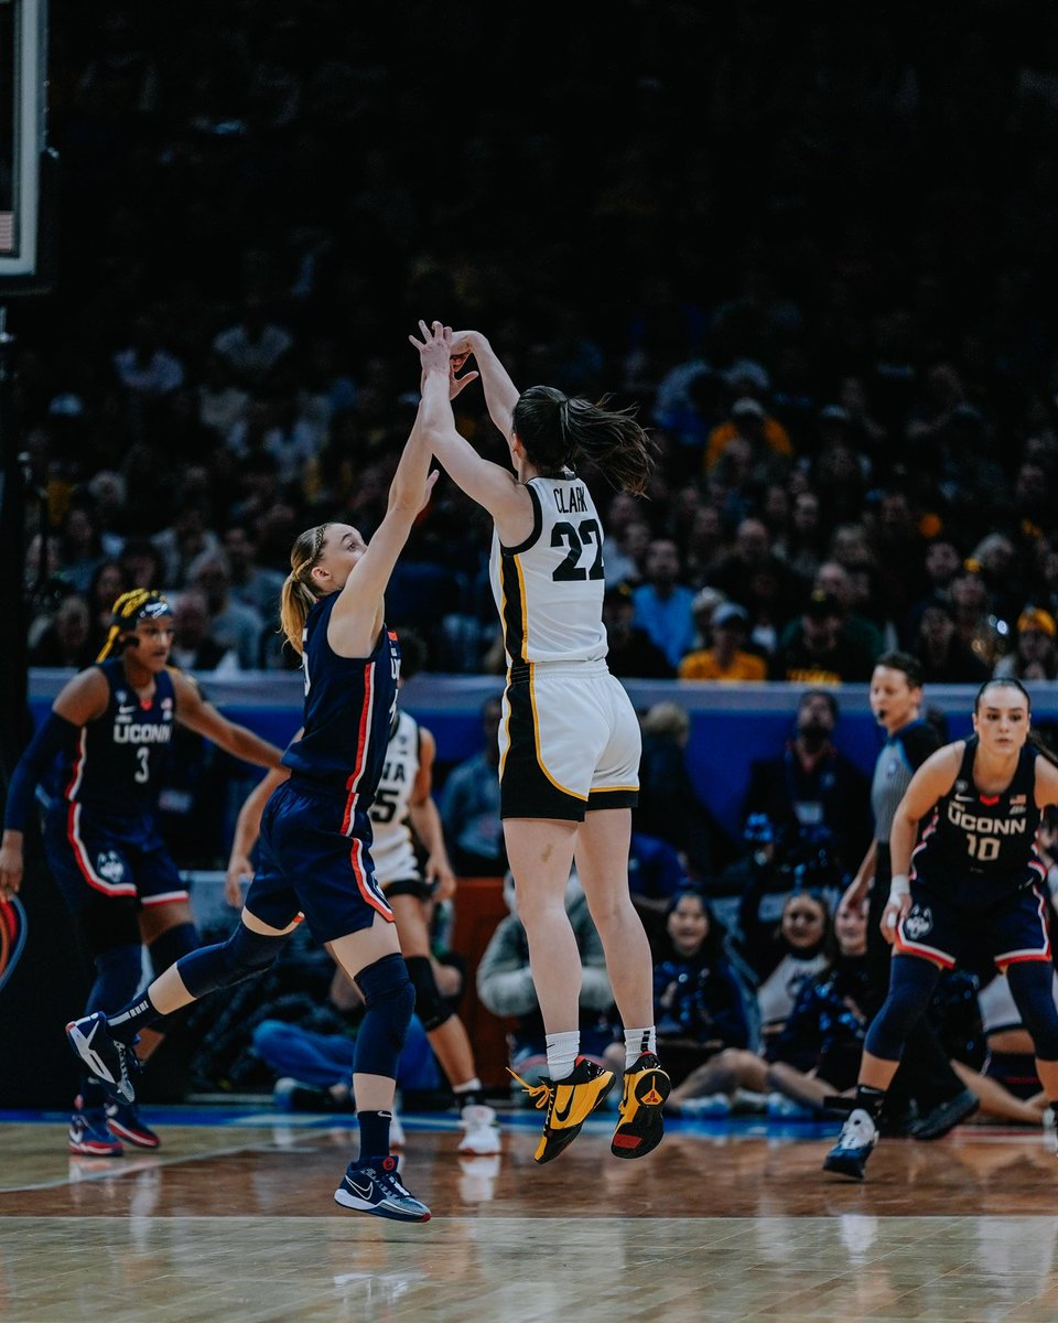
<path fill-rule="evenodd" d="M 951 889 L 957 892 L 957 880 Z M 897 926 L 895 949 L 946 970 L 968 950 L 988 953 L 1001 970 L 1018 960 L 1049 960 L 1046 902 L 1034 886 L 1025 886 L 987 906 L 957 905 L 939 889 L 913 881 L 911 909 Z"/>

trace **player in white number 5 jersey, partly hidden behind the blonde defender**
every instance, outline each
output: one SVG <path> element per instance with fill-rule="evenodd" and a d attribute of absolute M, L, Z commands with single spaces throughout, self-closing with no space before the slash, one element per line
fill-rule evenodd
<path fill-rule="evenodd" d="M 422 660 L 422 643 L 414 635 L 402 635 L 398 688 L 411 679 Z M 460 1109 L 464 1134 L 459 1152 L 475 1156 L 499 1154 L 496 1113 L 485 1105 L 467 1029 L 440 994 L 430 959 L 430 910 L 435 902 L 448 900 L 456 889 L 440 814 L 431 795 L 435 751 L 431 732 L 398 706 L 382 777 L 369 811 L 374 877 L 397 922 L 401 954 L 415 986 L 415 1015 L 426 1029 Z M 286 770 L 280 767 L 264 777 L 239 810 L 225 882 L 231 905 L 242 904 L 239 880 L 253 877 L 249 856 L 261 828 L 261 815 L 271 792 L 286 779 Z M 426 849 L 422 868 L 413 828 Z"/>

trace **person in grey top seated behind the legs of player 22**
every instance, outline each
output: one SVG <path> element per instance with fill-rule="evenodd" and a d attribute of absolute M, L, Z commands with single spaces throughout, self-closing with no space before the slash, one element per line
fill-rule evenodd
<path fill-rule="evenodd" d="M 540 1012 L 533 975 L 529 968 L 529 941 L 518 918 L 514 878 L 504 878 L 504 898 L 510 914 L 501 919 L 477 966 L 477 996 L 493 1015 L 513 1019 L 507 1036 L 510 1069 L 529 1085 L 540 1084 L 548 1073 L 548 1036 Z M 577 949 L 581 954 L 581 1052 L 596 1065 L 603 1065 L 603 1052 L 612 1040 L 614 990 L 606 972 L 603 943 L 591 921 L 587 900 L 575 873 L 566 888 L 566 910 L 570 916 Z M 522 1086 L 512 1080 L 512 1099 L 524 1102 Z"/>

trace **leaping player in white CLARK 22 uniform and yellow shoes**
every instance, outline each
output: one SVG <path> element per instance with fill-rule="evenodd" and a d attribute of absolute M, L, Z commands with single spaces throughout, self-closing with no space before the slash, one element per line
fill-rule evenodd
<path fill-rule="evenodd" d="M 579 1054 L 581 962 L 565 906 L 574 860 L 624 1025 L 627 1068 L 611 1151 L 640 1158 L 661 1142 L 669 1093 L 656 1056 L 651 949 L 628 892 L 640 734 L 606 664 L 603 529 L 573 466 L 595 462 L 615 486 L 641 493 L 652 445 L 627 411 L 551 386 L 520 394 L 477 332 L 442 327 L 413 344 L 425 372 L 430 446 L 493 520 L 492 586 L 509 663 L 500 814 L 550 1073 L 526 1086 L 546 1107 L 534 1158 L 557 1158 L 614 1085 L 611 1072 Z M 469 353 L 513 474 L 483 459 L 456 431 L 448 378 Z"/>

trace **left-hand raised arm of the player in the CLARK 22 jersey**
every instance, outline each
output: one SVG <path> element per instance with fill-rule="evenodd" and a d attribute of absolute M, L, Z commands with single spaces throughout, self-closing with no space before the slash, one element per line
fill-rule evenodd
<path fill-rule="evenodd" d="M 522 541 L 533 527 L 532 497 L 514 474 L 483 459 L 456 431 L 451 402 L 452 333 L 438 323 L 428 331 L 422 321 L 419 327 L 423 339 L 409 336 L 409 340 L 419 351 L 422 365 L 421 417 L 427 445 L 452 482 L 492 515 L 501 540 Z"/>

